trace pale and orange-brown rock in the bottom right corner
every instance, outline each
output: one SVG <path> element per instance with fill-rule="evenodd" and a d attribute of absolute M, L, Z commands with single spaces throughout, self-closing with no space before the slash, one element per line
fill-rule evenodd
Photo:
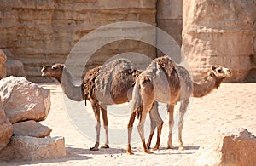
<path fill-rule="evenodd" d="M 247 129 L 223 132 L 212 146 L 201 146 L 176 165 L 255 165 L 256 137 Z"/>

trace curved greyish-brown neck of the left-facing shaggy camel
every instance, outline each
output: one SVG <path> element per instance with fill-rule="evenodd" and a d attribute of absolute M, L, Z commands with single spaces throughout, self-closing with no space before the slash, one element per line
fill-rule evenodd
<path fill-rule="evenodd" d="M 56 79 L 61 83 L 64 94 L 66 94 L 70 100 L 84 100 L 84 92 L 81 85 L 74 85 L 72 77 L 66 67 L 63 68 L 62 76 L 56 77 Z"/>

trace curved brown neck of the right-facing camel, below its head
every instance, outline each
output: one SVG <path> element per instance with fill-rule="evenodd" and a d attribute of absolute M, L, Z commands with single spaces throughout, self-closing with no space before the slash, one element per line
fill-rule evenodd
<path fill-rule="evenodd" d="M 210 73 L 202 83 L 193 83 L 193 96 L 194 97 L 203 97 L 207 94 L 210 94 L 213 89 L 218 89 L 222 80 Z"/>

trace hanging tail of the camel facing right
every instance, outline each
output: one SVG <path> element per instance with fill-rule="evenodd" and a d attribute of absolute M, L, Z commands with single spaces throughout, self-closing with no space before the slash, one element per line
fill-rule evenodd
<path fill-rule="evenodd" d="M 136 83 L 132 93 L 132 107 L 131 112 L 136 112 L 137 118 L 141 117 L 143 112 L 143 101 L 141 95 L 141 87 L 139 83 Z"/>

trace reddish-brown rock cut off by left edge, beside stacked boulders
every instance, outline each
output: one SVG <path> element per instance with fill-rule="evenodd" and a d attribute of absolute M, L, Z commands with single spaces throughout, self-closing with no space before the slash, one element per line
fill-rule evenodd
<path fill-rule="evenodd" d="M 0 102 L 0 151 L 9 143 L 11 136 L 13 135 L 13 127 L 5 116 L 2 103 Z"/>

